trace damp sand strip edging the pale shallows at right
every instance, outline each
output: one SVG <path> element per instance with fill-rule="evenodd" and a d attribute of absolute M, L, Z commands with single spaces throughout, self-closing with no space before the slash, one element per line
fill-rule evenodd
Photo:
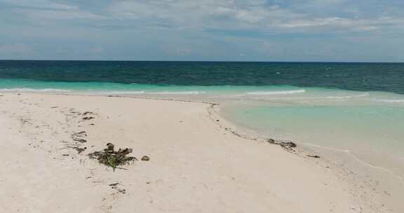
<path fill-rule="evenodd" d="M 227 116 L 222 115 L 222 118 L 227 120 L 227 125 L 230 125 L 234 128 L 233 130 L 238 132 L 235 135 L 241 135 L 241 137 L 253 141 L 261 140 L 265 142 L 267 139 L 275 139 L 278 142 L 294 142 L 297 144 L 297 147 L 293 149 L 294 152 L 288 149 L 285 149 L 285 151 L 289 151 L 304 160 L 315 160 L 315 163 L 321 167 L 332 167 L 334 170 L 339 170 L 342 174 L 337 172 L 336 175 L 348 181 L 351 186 L 363 189 L 362 184 L 368 184 L 367 187 L 370 191 L 364 192 L 361 196 L 377 196 L 374 193 L 379 191 L 377 200 L 382 201 L 383 205 L 391 208 L 389 212 L 402 212 L 404 210 L 404 206 L 400 201 L 404 196 L 404 178 L 399 173 L 389 170 L 388 167 L 372 165 L 363 161 L 354 153 L 342 149 L 308 144 L 302 141 L 297 142 L 293 139 L 267 137 L 262 132 L 257 132 L 238 123 L 234 124 L 225 117 Z M 233 130 L 230 130 L 230 132 Z"/>

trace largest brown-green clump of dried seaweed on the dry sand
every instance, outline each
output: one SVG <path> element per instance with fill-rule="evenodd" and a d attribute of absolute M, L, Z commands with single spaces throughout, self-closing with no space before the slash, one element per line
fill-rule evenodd
<path fill-rule="evenodd" d="M 132 149 L 126 148 L 114 151 L 114 144 L 108 143 L 107 149 L 104 149 L 104 151 L 95 151 L 89 153 L 88 156 L 96 158 L 99 163 L 112 167 L 115 171 L 116 168 L 119 168 L 119 165 L 128 165 L 130 162 L 133 163 L 137 160 L 135 157 L 128 156 L 129 153 L 132 153 Z"/>

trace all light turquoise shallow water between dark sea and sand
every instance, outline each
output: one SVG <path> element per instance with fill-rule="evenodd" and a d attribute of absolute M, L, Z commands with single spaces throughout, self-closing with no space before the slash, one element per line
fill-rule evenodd
<path fill-rule="evenodd" d="M 0 79 L 4 92 L 121 94 L 210 100 L 268 137 L 404 159 L 404 95 L 290 85 L 147 85 Z M 364 149 L 365 147 L 365 149 Z"/>

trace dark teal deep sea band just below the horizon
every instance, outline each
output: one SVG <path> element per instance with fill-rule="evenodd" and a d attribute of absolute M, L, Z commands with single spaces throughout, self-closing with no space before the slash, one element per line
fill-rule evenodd
<path fill-rule="evenodd" d="M 125 85 L 294 85 L 404 94 L 404 63 L 0 61 L 0 79 Z"/>

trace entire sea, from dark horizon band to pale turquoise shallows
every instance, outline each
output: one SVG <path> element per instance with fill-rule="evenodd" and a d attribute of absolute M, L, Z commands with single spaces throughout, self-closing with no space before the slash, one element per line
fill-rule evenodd
<path fill-rule="evenodd" d="M 0 91 L 220 102 L 242 128 L 404 177 L 402 63 L 9 60 Z"/>

